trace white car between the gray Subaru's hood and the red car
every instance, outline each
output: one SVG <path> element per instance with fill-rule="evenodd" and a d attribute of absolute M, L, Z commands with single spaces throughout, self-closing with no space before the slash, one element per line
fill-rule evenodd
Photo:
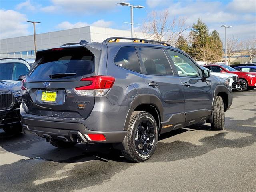
<path fill-rule="evenodd" d="M 205 68 L 203 66 L 200 66 L 202 69 L 205 70 L 209 70 L 208 68 Z M 239 83 L 239 77 L 237 74 L 233 74 L 233 73 L 215 73 L 212 72 L 211 70 L 209 70 L 211 72 L 211 75 L 214 76 L 218 76 L 221 78 L 224 78 L 226 80 L 228 80 L 228 84 L 232 89 L 237 89 L 240 87 L 240 83 Z"/>

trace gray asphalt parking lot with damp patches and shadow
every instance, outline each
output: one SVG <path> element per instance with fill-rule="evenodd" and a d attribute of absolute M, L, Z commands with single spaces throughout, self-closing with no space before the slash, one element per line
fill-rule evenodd
<path fill-rule="evenodd" d="M 196 124 L 160 137 L 152 158 L 127 162 L 111 145 L 58 149 L 0 132 L 1 191 L 256 191 L 256 90 L 234 92 L 226 129 Z"/>

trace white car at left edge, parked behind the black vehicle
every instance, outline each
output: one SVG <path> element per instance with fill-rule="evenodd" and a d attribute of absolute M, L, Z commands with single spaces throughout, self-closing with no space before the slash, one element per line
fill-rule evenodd
<path fill-rule="evenodd" d="M 31 66 L 22 58 L 0 59 L 0 81 L 4 80 L 21 85 L 20 75 L 26 76 Z"/>

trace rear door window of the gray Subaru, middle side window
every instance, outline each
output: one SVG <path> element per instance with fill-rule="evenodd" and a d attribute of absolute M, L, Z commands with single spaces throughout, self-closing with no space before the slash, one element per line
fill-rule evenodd
<path fill-rule="evenodd" d="M 162 49 L 139 48 L 147 74 L 173 75 L 172 68 Z"/>

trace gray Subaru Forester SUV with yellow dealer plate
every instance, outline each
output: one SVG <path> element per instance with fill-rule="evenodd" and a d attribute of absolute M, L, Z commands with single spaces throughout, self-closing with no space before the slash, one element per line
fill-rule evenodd
<path fill-rule="evenodd" d="M 222 130 L 232 104 L 226 80 L 169 44 L 137 38 L 38 51 L 22 92 L 24 133 L 59 148 L 113 143 L 134 162 L 152 156 L 159 134 L 202 121 Z"/>

